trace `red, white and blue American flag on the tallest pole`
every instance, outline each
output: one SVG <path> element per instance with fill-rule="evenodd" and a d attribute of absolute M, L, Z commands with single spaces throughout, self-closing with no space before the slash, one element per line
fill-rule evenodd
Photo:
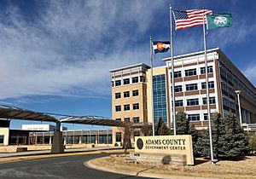
<path fill-rule="evenodd" d="M 203 14 L 212 14 L 208 9 L 173 10 L 176 28 L 175 30 L 186 29 L 193 26 L 203 25 Z M 205 16 L 205 24 L 207 17 Z"/>

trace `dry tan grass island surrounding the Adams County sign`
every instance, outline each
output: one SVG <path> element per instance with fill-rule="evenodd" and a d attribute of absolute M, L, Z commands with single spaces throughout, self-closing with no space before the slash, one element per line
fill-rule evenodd
<path fill-rule="evenodd" d="M 256 157 L 249 156 L 239 161 L 219 161 L 217 165 L 211 165 L 207 159 L 196 159 L 195 166 L 183 165 L 157 165 L 141 162 L 134 164 L 125 162 L 125 155 L 111 155 L 91 161 L 94 165 L 102 167 L 134 171 L 137 173 L 154 173 L 173 176 L 198 176 L 214 178 L 255 178 L 256 179 Z"/>

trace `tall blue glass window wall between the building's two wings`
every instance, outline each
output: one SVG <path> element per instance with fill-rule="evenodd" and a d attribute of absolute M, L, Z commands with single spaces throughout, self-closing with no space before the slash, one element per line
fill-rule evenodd
<path fill-rule="evenodd" d="M 154 99 L 154 123 L 163 118 L 167 123 L 166 113 L 166 75 L 156 75 L 153 77 L 153 99 Z"/>

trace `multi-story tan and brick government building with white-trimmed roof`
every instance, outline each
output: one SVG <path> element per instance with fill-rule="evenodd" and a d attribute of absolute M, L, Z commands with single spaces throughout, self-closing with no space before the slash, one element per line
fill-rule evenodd
<path fill-rule="evenodd" d="M 112 72 L 112 115 L 114 120 L 154 123 L 163 118 L 172 125 L 172 61 L 151 70 L 145 64 L 125 66 Z M 207 72 L 211 113 L 233 113 L 239 117 L 236 90 L 241 90 L 242 123 L 256 123 L 256 90 L 253 84 L 220 49 L 207 50 Z M 187 113 L 191 124 L 207 127 L 207 90 L 204 52 L 174 57 L 176 111 Z M 153 87 L 152 87 L 153 84 Z M 153 89 L 153 102 L 152 102 Z M 154 104 L 153 104 L 154 103 Z M 122 141 L 113 128 L 113 142 Z"/>

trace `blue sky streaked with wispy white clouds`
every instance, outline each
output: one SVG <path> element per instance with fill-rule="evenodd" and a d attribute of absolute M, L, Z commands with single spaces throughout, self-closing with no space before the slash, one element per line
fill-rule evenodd
<path fill-rule="evenodd" d="M 0 1 L 0 104 L 45 113 L 111 118 L 109 70 L 149 65 L 149 38 L 170 40 L 172 9 L 231 13 L 233 26 L 207 33 L 256 84 L 256 1 Z M 173 32 L 174 55 L 203 50 L 202 26 Z M 163 66 L 155 55 L 154 66 Z M 12 129 L 38 122 L 11 121 Z M 43 123 L 45 124 L 45 123 Z M 64 124 L 69 130 L 102 127 Z"/>

